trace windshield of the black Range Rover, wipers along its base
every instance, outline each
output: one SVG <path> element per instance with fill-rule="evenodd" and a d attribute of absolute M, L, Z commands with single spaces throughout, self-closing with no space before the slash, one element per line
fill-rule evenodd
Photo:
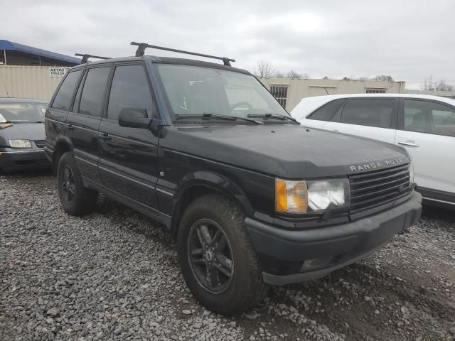
<path fill-rule="evenodd" d="M 211 119 L 217 119 L 216 114 L 288 123 L 287 120 L 277 120 L 290 116 L 252 75 L 171 64 L 159 64 L 158 70 L 171 104 L 172 119 L 185 118 L 179 120 L 181 123 L 191 121 L 190 115 L 196 115 L 199 120 L 203 114 L 212 114 Z"/>

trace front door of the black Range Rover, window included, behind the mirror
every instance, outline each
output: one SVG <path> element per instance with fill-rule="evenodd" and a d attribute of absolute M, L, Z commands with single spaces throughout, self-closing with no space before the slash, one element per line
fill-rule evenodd
<path fill-rule="evenodd" d="M 159 136 L 149 129 L 119 126 L 119 114 L 125 107 L 145 108 L 150 119 L 158 117 L 143 63 L 115 65 L 107 110 L 100 124 L 100 174 L 109 190 L 157 208 Z"/>

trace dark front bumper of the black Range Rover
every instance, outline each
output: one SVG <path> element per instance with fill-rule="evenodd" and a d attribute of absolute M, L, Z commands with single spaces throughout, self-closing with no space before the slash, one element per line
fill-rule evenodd
<path fill-rule="evenodd" d="M 278 229 L 245 219 L 253 247 L 260 254 L 264 281 L 282 285 L 321 278 L 331 271 L 365 258 L 395 234 L 419 220 L 422 196 L 376 215 L 317 229 Z"/>

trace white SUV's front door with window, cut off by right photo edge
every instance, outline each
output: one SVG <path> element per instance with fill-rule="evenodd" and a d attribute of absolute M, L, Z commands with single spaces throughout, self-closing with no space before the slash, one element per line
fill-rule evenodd
<path fill-rule="evenodd" d="M 395 141 L 410 153 L 422 195 L 455 201 L 455 107 L 402 99 Z"/>

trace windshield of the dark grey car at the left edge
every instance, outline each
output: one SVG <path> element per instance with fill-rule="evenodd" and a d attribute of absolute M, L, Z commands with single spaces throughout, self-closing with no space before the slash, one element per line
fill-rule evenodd
<path fill-rule="evenodd" d="M 0 123 L 44 121 L 46 107 L 45 103 L 0 103 Z"/>

